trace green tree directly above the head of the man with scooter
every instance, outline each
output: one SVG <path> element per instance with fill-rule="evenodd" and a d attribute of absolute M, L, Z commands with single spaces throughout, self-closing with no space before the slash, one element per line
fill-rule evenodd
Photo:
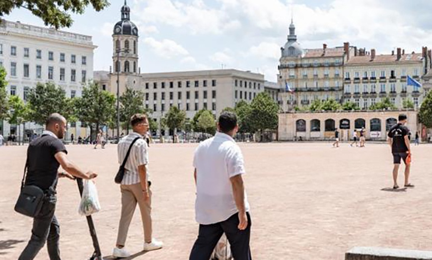
<path fill-rule="evenodd" d="M 29 121 L 41 126 L 45 125 L 52 113 L 60 113 L 67 120 L 73 114 L 65 90 L 51 82 L 38 83 L 35 88 L 31 88 L 27 94 L 27 104 L 30 110 Z"/>

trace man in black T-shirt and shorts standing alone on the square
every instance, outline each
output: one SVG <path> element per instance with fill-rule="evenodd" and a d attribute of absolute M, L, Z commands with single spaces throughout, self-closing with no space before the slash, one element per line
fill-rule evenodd
<path fill-rule="evenodd" d="M 401 159 L 405 163 L 405 184 L 404 187 L 414 187 L 410 184 L 410 163 L 407 162 L 407 157 L 411 156 L 410 147 L 410 130 L 404 126 L 407 123 L 407 116 L 404 114 L 399 115 L 399 122 L 394 125 L 388 132 L 388 141 L 391 146 L 391 152 L 393 154 L 393 189 L 398 189 L 397 177 L 399 171 L 399 165 L 401 164 Z"/>

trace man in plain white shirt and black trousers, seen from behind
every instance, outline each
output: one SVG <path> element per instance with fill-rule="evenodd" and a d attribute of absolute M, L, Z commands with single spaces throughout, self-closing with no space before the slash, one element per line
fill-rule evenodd
<path fill-rule="evenodd" d="M 235 114 L 223 112 L 217 130 L 215 137 L 203 141 L 195 151 L 195 212 L 200 229 L 189 260 L 210 259 L 223 233 L 235 260 L 251 260 L 251 218 L 242 179 L 246 171 L 241 150 L 232 138 L 238 130 Z"/>

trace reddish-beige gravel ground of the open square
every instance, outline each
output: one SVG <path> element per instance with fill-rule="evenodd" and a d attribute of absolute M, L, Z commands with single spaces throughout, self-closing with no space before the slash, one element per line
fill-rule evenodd
<path fill-rule="evenodd" d="M 432 244 L 432 146 L 413 147 L 415 189 L 382 191 L 392 186 L 392 156 L 384 144 L 339 149 L 329 143 L 240 144 L 252 208 L 252 254 L 257 260 L 342 260 L 354 246 L 430 250 Z M 196 144 L 150 147 L 153 225 L 162 250 L 135 259 L 188 259 L 198 232 L 194 221 L 192 157 Z M 116 146 L 93 150 L 67 146 L 84 169 L 99 173 L 102 211 L 93 216 L 104 256 L 116 241 L 120 192 Z M 26 147 L 0 147 L 0 259 L 17 259 L 30 237 L 32 220 L 13 211 L 24 168 Z M 403 172 L 400 171 L 400 185 Z M 76 182 L 62 179 L 56 215 L 61 224 L 63 259 L 83 260 L 93 249 L 84 217 L 77 213 Z M 143 229 L 139 209 L 128 249 L 139 253 Z M 48 259 L 46 248 L 38 260 Z"/>

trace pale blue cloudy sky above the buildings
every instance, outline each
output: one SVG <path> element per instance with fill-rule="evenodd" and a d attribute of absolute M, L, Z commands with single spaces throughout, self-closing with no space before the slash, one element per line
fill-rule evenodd
<path fill-rule="evenodd" d="M 94 69 L 108 70 L 113 25 L 123 0 L 95 12 L 74 15 L 66 31 L 93 36 L 98 46 Z M 415 2 L 415 4 L 413 4 Z M 276 81 L 280 47 L 285 45 L 293 13 L 303 48 L 342 46 L 390 53 L 432 48 L 430 0 L 128 0 L 139 27 L 141 72 L 237 68 L 264 73 Z M 43 22 L 25 9 L 7 20 Z"/>

